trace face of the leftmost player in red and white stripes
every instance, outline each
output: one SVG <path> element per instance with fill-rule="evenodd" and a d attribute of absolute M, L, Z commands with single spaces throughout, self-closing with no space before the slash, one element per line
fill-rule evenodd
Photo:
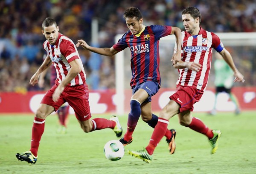
<path fill-rule="evenodd" d="M 58 26 L 54 24 L 49 27 L 44 27 L 44 30 L 42 30 L 42 33 L 51 45 L 54 45 L 58 39 L 58 30 Z"/>

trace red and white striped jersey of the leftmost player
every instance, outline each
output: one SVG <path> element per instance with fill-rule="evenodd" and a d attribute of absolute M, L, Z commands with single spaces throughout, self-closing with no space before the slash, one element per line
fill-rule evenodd
<path fill-rule="evenodd" d="M 59 84 L 62 80 L 65 79 L 71 68 L 69 63 L 75 59 L 79 59 L 79 66 L 82 67 L 82 70 L 74 79 L 70 81 L 70 84 L 68 85 L 75 86 L 84 84 L 86 79 L 84 67 L 76 46 L 71 39 L 69 39 L 67 36 L 64 36 L 63 34 L 59 34 L 55 45 L 50 45 L 46 40 L 43 44 L 43 47 L 51 58 L 52 63 L 56 69 L 57 78 L 55 80 L 55 84 Z"/>

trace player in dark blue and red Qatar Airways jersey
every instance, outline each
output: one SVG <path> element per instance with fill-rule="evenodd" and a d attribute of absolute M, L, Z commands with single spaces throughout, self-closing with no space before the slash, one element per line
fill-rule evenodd
<path fill-rule="evenodd" d="M 176 64 L 181 59 L 181 31 L 172 26 L 143 25 L 142 14 L 136 7 L 126 9 L 123 17 L 129 31 L 111 48 L 91 47 L 84 40 L 78 40 L 76 46 L 106 56 L 113 56 L 127 47 L 130 49 L 132 72 L 130 85 L 133 95 L 130 101 L 131 111 L 128 114 L 127 131 L 119 140 L 126 146 L 133 141 L 132 134 L 140 116 L 153 128 L 157 124 L 158 117 L 151 112 L 151 97 L 158 92 L 161 84 L 159 41 L 164 36 L 175 35 L 178 47 L 177 53 L 172 56 L 172 63 Z M 168 130 L 166 127 L 163 133 L 172 154 L 175 151 L 175 129 Z"/>

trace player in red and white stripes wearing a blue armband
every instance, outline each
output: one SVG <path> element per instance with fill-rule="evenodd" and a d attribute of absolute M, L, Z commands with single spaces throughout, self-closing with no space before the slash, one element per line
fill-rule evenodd
<path fill-rule="evenodd" d="M 138 151 L 128 150 L 130 155 L 146 163 L 151 162 L 154 149 L 163 138 L 169 119 L 176 114 L 182 126 L 207 136 L 212 147 L 211 154 L 218 149 L 221 131 L 212 130 L 200 119 L 192 117 L 193 105 L 200 100 L 207 87 L 213 49 L 221 54 L 233 70 L 234 81 L 244 81 L 244 76 L 237 70 L 232 56 L 224 48 L 219 37 L 201 28 L 201 13 L 198 8 L 185 8 L 182 11 L 182 20 L 185 27 L 185 31 L 182 32 L 182 60 L 174 65 L 180 73 L 176 92 L 169 97 L 169 103 L 160 112 L 148 146 Z M 178 46 L 175 46 L 175 53 L 177 48 Z"/>

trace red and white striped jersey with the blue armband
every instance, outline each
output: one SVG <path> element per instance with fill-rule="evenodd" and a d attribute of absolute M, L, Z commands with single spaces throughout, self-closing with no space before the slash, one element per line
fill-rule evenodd
<path fill-rule="evenodd" d="M 177 45 L 175 45 L 175 51 Z M 199 72 L 185 69 L 178 69 L 180 75 L 177 80 L 177 85 L 192 86 L 198 90 L 205 90 L 208 83 L 209 72 L 212 61 L 212 48 L 221 52 L 223 44 L 219 37 L 200 27 L 198 35 L 192 36 L 186 31 L 182 32 L 182 49 L 181 56 L 184 62 L 197 62 L 202 65 Z"/>

